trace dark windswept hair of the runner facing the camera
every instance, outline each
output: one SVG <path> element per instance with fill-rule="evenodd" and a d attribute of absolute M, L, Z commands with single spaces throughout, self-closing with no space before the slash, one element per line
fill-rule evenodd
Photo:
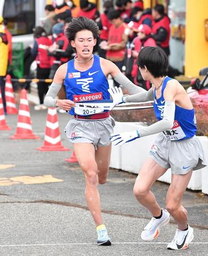
<path fill-rule="evenodd" d="M 78 18 L 73 18 L 69 23 L 69 26 L 65 30 L 66 38 L 68 38 L 69 42 L 72 40 L 74 41 L 77 32 L 82 30 L 91 31 L 94 39 L 99 37 L 99 28 L 94 20 L 81 16 Z"/>

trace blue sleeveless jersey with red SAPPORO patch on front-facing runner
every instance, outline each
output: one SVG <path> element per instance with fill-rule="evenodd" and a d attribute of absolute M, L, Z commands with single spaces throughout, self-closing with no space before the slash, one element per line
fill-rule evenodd
<path fill-rule="evenodd" d="M 110 94 L 107 91 L 109 83 L 102 72 L 98 55 L 94 55 L 92 67 L 84 72 L 74 68 L 74 60 L 68 61 L 67 65 L 64 85 L 68 100 L 74 102 L 110 100 Z M 73 108 L 69 114 L 75 114 Z"/>

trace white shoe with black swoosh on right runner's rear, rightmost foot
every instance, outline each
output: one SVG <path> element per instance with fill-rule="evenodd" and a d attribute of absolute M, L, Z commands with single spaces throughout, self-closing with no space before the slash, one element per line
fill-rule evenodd
<path fill-rule="evenodd" d="M 189 226 L 188 230 L 182 231 L 176 229 L 176 234 L 171 243 L 168 243 L 168 250 L 185 250 L 188 248 L 189 243 L 194 239 L 194 229 Z"/>

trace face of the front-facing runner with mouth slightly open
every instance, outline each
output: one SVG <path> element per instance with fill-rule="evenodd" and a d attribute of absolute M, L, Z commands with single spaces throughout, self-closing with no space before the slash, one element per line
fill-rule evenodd
<path fill-rule="evenodd" d="M 76 48 L 77 56 L 80 59 L 88 59 L 93 53 L 93 47 L 97 40 L 93 38 L 93 33 L 89 30 L 77 32 L 74 40 L 71 41 L 72 47 Z"/>

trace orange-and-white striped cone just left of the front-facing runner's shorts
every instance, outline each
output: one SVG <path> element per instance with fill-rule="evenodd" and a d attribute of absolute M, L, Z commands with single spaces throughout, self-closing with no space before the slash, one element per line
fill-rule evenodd
<path fill-rule="evenodd" d="M 48 109 L 44 144 L 43 146 L 36 149 L 41 151 L 68 151 L 69 150 L 69 148 L 66 148 L 61 144 L 59 121 L 57 117 L 56 108 Z"/>

